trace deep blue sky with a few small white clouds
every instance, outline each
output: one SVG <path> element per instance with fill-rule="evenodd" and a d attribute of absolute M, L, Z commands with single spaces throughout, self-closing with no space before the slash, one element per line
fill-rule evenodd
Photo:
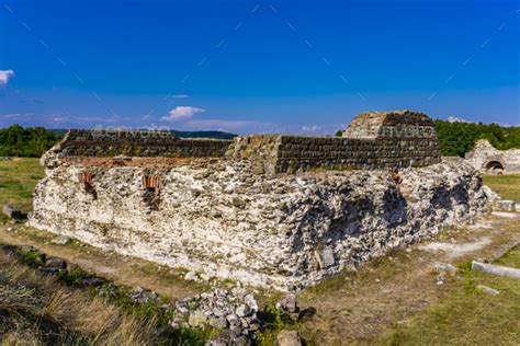
<path fill-rule="evenodd" d="M 520 124 L 520 1 L 1 1 L 0 126 Z"/>

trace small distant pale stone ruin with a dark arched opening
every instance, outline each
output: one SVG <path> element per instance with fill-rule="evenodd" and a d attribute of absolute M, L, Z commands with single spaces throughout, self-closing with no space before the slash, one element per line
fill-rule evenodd
<path fill-rule="evenodd" d="M 519 174 L 520 149 L 497 150 L 486 139 L 476 142 L 466 161 L 484 174 Z"/>

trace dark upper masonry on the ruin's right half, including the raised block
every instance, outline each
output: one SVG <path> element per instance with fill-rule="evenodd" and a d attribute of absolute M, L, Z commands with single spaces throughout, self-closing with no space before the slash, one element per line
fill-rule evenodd
<path fill-rule="evenodd" d="M 427 166 L 441 160 L 432 120 L 409 111 L 360 114 L 343 137 L 238 137 L 226 155 L 250 160 L 256 171 L 271 174 Z"/>

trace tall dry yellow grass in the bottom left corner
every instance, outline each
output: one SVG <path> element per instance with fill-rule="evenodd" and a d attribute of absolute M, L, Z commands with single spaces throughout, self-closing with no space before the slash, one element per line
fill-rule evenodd
<path fill-rule="evenodd" d="M 100 297 L 70 289 L 0 253 L 0 336 L 4 345 L 68 341 L 97 345 L 155 344 L 142 321 Z"/>

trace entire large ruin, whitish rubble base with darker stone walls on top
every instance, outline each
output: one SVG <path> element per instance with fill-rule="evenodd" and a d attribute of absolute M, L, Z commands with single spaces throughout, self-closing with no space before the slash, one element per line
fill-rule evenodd
<path fill-rule="evenodd" d="M 478 172 L 431 119 L 357 116 L 342 137 L 71 130 L 43 158 L 30 223 L 122 254 L 291 290 L 485 212 Z"/>

